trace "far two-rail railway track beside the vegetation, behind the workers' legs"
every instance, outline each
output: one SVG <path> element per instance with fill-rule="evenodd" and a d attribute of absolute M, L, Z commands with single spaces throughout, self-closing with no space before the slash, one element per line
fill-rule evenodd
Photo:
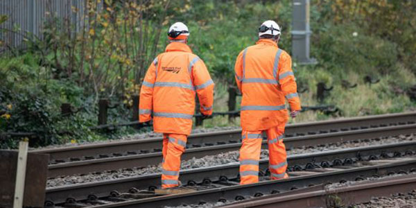
<path fill-rule="evenodd" d="M 412 126 L 415 122 L 416 112 L 288 125 L 285 144 L 290 149 L 409 134 L 416 132 L 415 126 Z M 182 159 L 238 150 L 240 138 L 241 130 L 191 135 Z M 58 177 L 159 164 L 162 158 L 161 144 L 162 138 L 154 138 L 35 150 L 33 153 L 50 154 L 48 177 Z M 266 146 L 266 140 L 263 146 Z"/>

